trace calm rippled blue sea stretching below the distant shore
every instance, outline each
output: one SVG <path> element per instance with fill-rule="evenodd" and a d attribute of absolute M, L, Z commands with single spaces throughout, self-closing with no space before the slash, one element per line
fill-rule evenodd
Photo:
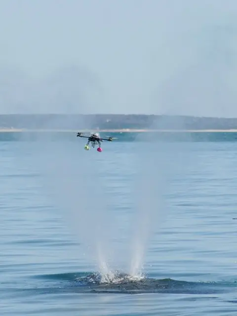
<path fill-rule="evenodd" d="M 0 137 L 1 316 L 237 315 L 236 135 Z"/>

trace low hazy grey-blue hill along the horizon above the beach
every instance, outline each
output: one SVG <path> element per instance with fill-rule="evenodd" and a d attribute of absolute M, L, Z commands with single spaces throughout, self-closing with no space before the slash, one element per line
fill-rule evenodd
<path fill-rule="evenodd" d="M 237 118 L 155 114 L 0 114 L 0 129 L 237 129 Z"/>

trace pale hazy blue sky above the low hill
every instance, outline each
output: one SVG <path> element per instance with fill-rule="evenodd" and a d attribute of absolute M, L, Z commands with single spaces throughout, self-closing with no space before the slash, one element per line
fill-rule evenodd
<path fill-rule="evenodd" d="M 0 113 L 237 117 L 236 0 L 1 0 Z"/>

